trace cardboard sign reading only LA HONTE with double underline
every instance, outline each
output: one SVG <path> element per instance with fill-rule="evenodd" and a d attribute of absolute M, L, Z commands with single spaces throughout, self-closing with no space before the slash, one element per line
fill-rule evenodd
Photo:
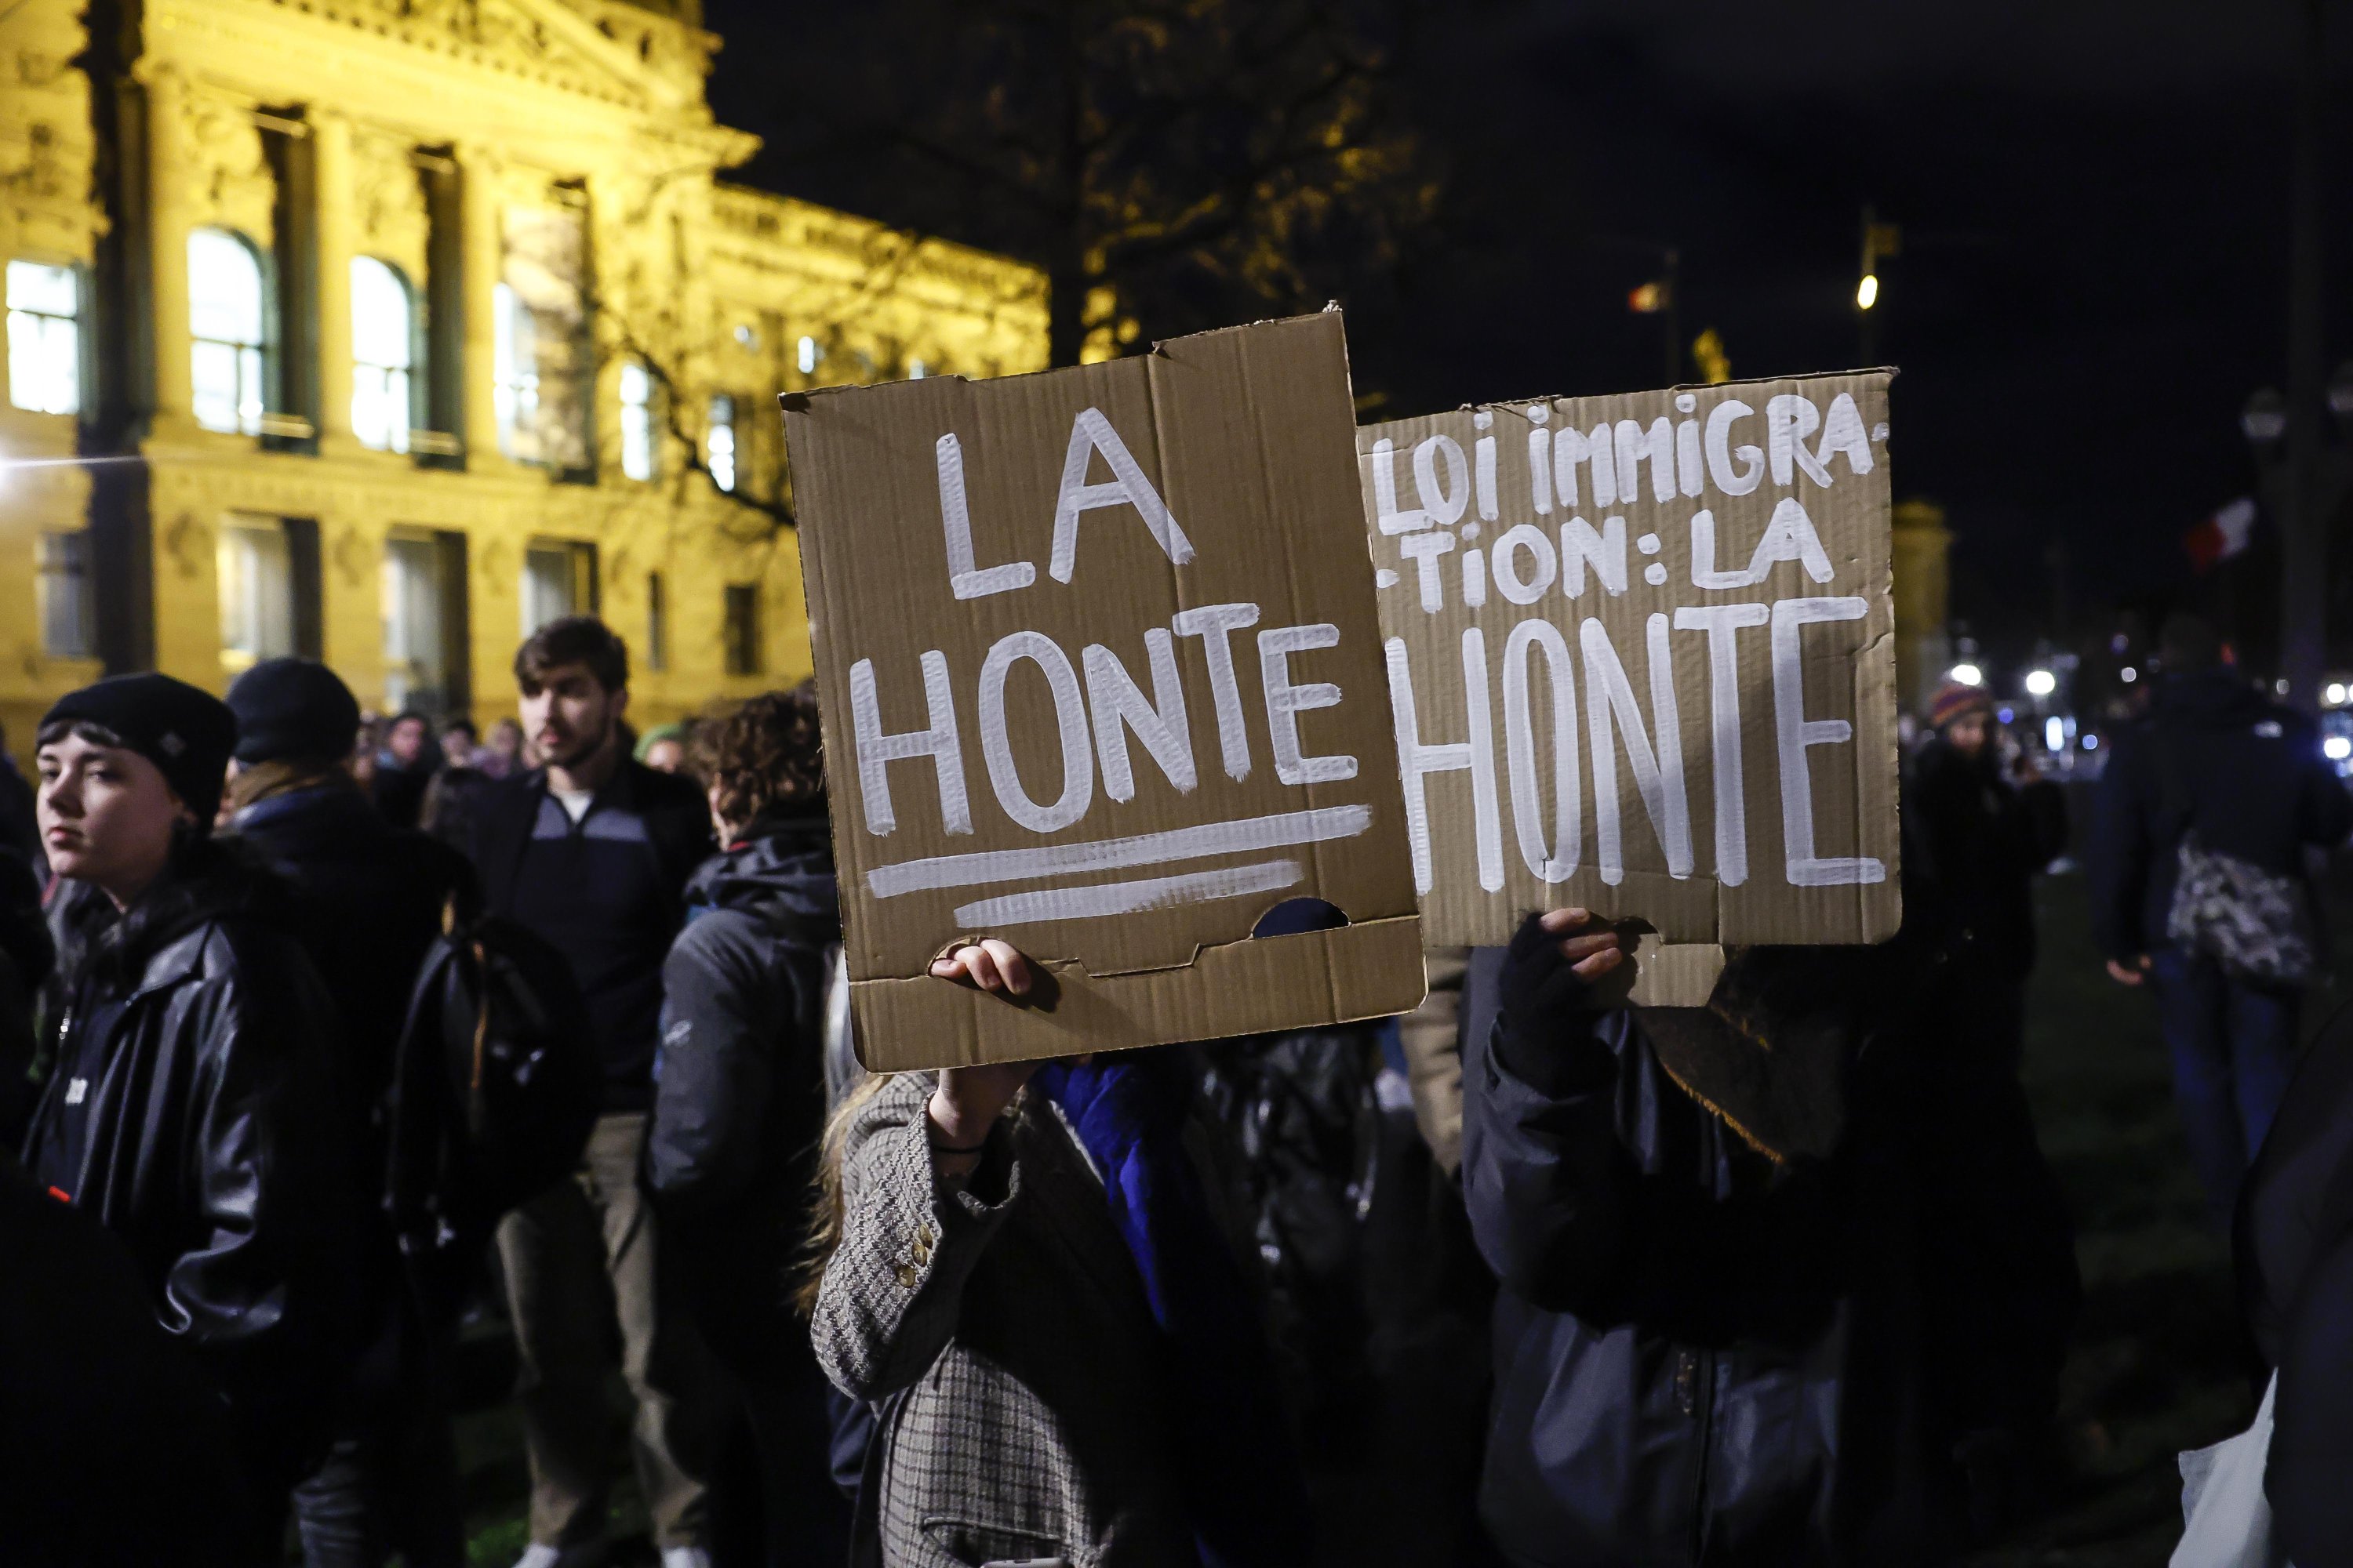
<path fill-rule="evenodd" d="M 1337 313 L 791 395 L 786 437 L 868 1067 L 1421 999 Z M 1348 924 L 1252 936 L 1299 898 Z M 929 978 L 981 933 L 1031 1004 Z"/>

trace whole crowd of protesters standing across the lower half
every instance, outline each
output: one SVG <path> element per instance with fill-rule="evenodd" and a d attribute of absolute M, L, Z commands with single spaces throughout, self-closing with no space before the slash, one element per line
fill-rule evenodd
<path fill-rule="evenodd" d="M 1922 715 L 1878 947 L 1631 1009 L 1621 929 L 1551 910 L 1431 952 L 1395 1030 L 868 1077 L 812 689 L 638 736 L 598 621 L 513 668 L 487 745 L 282 658 L 104 679 L 38 788 L 0 762 L 0 1559 L 468 1561 L 468 1300 L 520 1568 L 607 1559 L 614 1373 L 664 1568 L 1915 1566 L 2042 1500 L 2078 1279 L 2019 1070 L 2068 811 L 1981 689 Z M 2240 1234 L 2306 1568 L 2348 1561 L 2353 1041 L 2299 1058 L 2320 938 L 2264 898 L 2348 830 L 2311 724 L 2169 625 L 2094 924 Z M 419 1185 L 449 1072 L 471 1164 Z"/>

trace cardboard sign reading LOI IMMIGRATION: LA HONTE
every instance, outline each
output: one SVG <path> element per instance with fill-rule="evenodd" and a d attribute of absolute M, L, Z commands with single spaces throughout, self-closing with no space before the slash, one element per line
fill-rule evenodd
<path fill-rule="evenodd" d="M 1666 954 L 1894 933 L 1889 378 L 1358 430 L 1431 943 L 1565 905 Z"/>

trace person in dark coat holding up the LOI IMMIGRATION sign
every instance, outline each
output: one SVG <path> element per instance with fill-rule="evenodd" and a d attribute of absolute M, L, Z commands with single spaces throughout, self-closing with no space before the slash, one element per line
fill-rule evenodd
<path fill-rule="evenodd" d="M 2075 1305 L 2017 1081 L 1901 943 L 1734 950 L 1704 1009 L 1612 1006 L 1621 961 L 1584 910 L 1529 917 L 1466 1039 L 1489 1535 L 1544 1568 L 1951 1561 L 2031 1474 Z"/>

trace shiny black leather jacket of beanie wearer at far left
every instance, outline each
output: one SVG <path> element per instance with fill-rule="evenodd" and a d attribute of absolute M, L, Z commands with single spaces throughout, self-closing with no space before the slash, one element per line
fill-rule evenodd
<path fill-rule="evenodd" d="M 73 1046 L 87 1147 L 71 1192 L 228 1396 L 268 1497 L 313 1465 L 355 1333 L 334 1011 L 271 877 L 219 844 L 176 856 L 120 919 L 75 903 L 59 1034 L 92 1001 L 113 1027 Z M 64 1093 L 56 1072 L 28 1147 Z"/>

